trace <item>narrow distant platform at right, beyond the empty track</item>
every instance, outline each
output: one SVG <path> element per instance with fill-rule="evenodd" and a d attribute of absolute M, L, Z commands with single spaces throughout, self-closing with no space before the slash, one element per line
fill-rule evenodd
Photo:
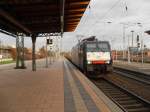
<path fill-rule="evenodd" d="M 113 67 L 123 68 L 131 71 L 141 72 L 150 75 L 150 64 L 141 62 L 113 61 Z"/>

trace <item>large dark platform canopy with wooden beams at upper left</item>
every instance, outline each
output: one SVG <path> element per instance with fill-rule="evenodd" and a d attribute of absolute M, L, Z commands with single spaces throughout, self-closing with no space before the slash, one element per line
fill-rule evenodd
<path fill-rule="evenodd" d="M 16 34 L 72 32 L 90 0 L 0 0 L 0 29 Z"/>

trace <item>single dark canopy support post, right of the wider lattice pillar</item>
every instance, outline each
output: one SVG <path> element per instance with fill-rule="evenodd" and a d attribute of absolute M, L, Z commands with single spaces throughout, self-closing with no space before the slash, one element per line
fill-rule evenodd
<path fill-rule="evenodd" d="M 32 35 L 32 71 L 36 71 L 35 43 L 36 43 L 36 35 Z"/>

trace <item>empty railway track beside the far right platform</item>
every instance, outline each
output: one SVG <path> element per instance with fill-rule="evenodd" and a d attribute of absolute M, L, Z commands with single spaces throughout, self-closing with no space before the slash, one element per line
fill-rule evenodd
<path fill-rule="evenodd" d="M 150 85 L 150 75 L 117 67 L 114 67 L 114 73 Z"/>

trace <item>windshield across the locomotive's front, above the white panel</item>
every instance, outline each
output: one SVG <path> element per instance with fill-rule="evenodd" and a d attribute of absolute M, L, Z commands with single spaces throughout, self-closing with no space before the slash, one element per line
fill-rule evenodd
<path fill-rule="evenodd" d="M 87 51 L 92 51 L 92 52 L 110 52 L 110 47 L 109 44 L 104 42 L 98 42 L 98 43 L 88 43 L 87 45 Z"/>

